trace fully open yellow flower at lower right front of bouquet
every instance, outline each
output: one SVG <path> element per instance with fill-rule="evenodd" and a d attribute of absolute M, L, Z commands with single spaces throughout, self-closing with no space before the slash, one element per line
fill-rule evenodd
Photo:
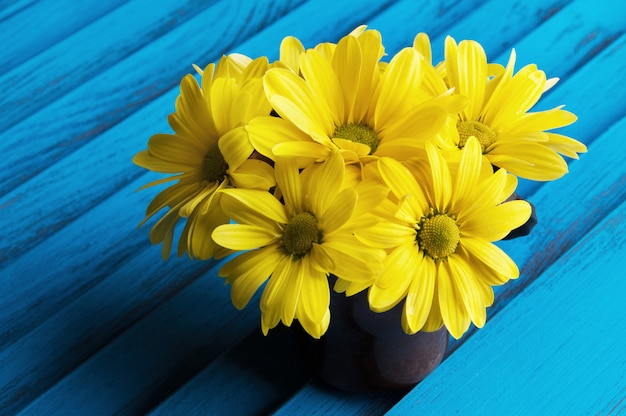
<path fill-rule="evenodd" d="M 525 201 L 503 202 L 517 178 L 503 169 L 493 173 L 476 138 L 468 139 L 454 167 L 434 145 L 426 146 L 428 163 L 379 160 L 398 204 L 395 219 L 356 235 L 389 250 L 369 290 L 371 308 L 383 312 L 406 299 L 407 333 L 445 324 L 459 338 L 470 322 L 484 325 L 491 285 L 518 277 L 515 263 L 492 243 L 528 220 L 531 208 Z"/>

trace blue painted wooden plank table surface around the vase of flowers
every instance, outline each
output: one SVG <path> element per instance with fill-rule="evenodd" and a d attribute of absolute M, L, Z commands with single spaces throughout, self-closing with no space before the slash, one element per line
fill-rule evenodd
<path fill-rule="evenodd" d="M 278 57 L 360 24 L 389 54 L 427 32 L 561 82 L 589 152 L 522 182 L 521 277 L 406 393 L 348 394 L 237 311 L 220 263 L 170 258 L 136 225 L 158 175 L 131 163 L 169 131 L 180 78 L 224 53 Z M 626 413 L 626 12 L 611 0 L 0 1 L 0 414 Z"/>

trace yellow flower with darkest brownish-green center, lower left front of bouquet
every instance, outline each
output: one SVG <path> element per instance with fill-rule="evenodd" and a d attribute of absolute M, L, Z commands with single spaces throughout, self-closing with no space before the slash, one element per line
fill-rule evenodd
<path fill-rule="evenodd" d="M 295 160 L 279 159 L 276 182 L 284 203 L 258 190 L 223 192 L 223 209 L 237 224 L 218 226 L 213 239 L 231 250 L 251 251 L 226 263 L 219 275 L 232 285 L 237 308 L 269 280 L 260 301 L 265 334 L 279 321 L 290 326 L 297 319 L 319 338 L 330 320 L 328 274 L 370 281 L 380 271 L 384 251 L 365 246 L 353 233 L 362 225 L 360 213 L 377 198 L 343 187 L 344 172 L 338 153 L 301 174 Z"/>

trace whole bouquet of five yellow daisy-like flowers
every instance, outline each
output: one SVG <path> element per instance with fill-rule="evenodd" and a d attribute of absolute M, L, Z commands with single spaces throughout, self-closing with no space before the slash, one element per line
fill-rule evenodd
<path fill-rule="evenodd" d="M 367 291 L 370 308 L 403 303 L 408 334 L 482 327 L 492 286 L 517 278 L 494 242 L 531 216 L 512 200 L 517 178 L 554 180 L 580 142 L 550 132 L 576 116 L 530 112 L 557 79 L 535 65 L 489 63 L 475 41 L 427 35 L 385 59 L 362 26 L 305 49 L 287 37 L 280 59 L 224 56 L 180 84 L 171 134 L 133 161 L 170 174 L 146 220 L 167 258 L 233 257 L 219 275 L 233 304 L 263 288 L 261 327 L 298 320 L 321 337 L 333 290 Z M 161 214 L 162 213 L 162 214 Z M 144 220 L 144 221 L 146 221 Z"/>

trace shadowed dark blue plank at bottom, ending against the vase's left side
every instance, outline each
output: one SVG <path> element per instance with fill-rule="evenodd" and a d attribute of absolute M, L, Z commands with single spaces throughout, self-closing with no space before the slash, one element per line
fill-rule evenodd
<path fill-rule="evenodd" d="M 150 415 L 269 414 L 310 376 L 306 363 L 293 353 L 299 345 L 292 332 L 279 326 L 264 337 L 253 330 Z"/>

